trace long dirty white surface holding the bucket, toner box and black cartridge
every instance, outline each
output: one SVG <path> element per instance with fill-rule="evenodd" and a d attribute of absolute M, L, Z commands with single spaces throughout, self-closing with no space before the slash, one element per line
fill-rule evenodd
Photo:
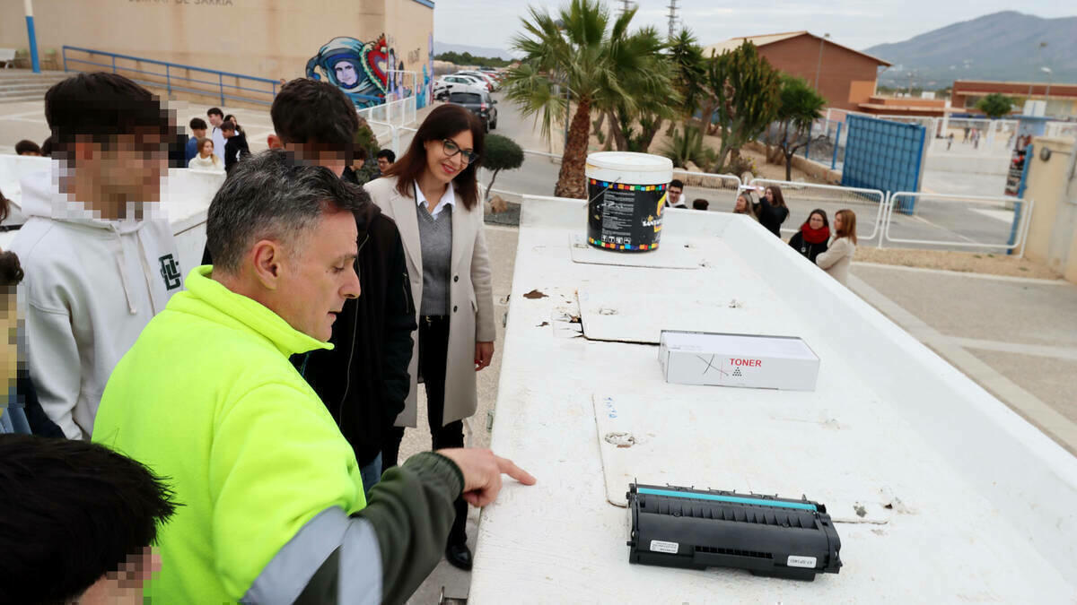
<path fill-rule="evenodd" d="M 701 242 L 704 266 L 593 265 L 574 263 L 565 245 L 585 225 L 584 205 L 536 198 L 523 205 L 491 447 L 537 483 L 506 479 L 498 501 L 482 509 L 470 603 L 1077 596 L 1071 454 L 758 223 L 671 211 L 663 237 Z M 542 296 L 528 296 L 532 291 Z M 630 321 L 617 324 L 615 341 L 582 338 L 574 319 L 586 313 L 577 314 L 574 299 L 614 306 Z M 730 299 L 739 308 L 722 307 Z M 689 313 L 700 322 L 725 318 L 731 325 L 719 332 L 803 338 L 821 361 L 816 392 L 669 384 L 657 347 L 619 341 L 644 315 L 680 321 Z M 893 506 L 890 518 L 841 525 L 845 566 L 813 582 L 630 564 L 628 515 L 609 503 L 616 492 L 604 479 L 596 393 L 651 406 L 653 416 L 629 419 L 626 433 L 665 439 L 676 434 L 669 427 L 687 426 L 695 435 L 648 456 L 646 464 L 670 482 L 806 494 L 839 518 L 864 498 L 865 518 L 879 513 L 871 506 L 880 503 Z M 685 406 L 710 406 L 705 413 L 715 416 L 693 418 Z M 698 460 L 710 469 L 695 466 Z M 616 491 L 626 491 L 625 477 L 640 467 L 627 466 Z M 859 518 L 855 509 L 852 516 Z"/>

